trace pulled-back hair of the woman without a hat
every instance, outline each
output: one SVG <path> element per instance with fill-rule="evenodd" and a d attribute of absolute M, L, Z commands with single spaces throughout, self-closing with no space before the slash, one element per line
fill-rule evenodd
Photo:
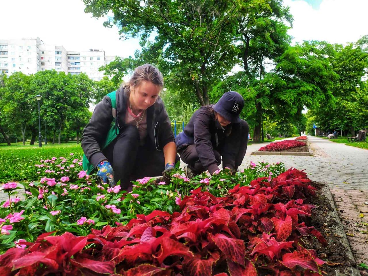
<path fill-rule="evenodd" d="M 162 73 L 151 64 L 143 64 L 134 69 L 128 82 L 123 82 L 120 87 L 130 92 L 130 88 L 139 85 L 142 81 L 152 82 L 162 90 L 164 86 Z"/>

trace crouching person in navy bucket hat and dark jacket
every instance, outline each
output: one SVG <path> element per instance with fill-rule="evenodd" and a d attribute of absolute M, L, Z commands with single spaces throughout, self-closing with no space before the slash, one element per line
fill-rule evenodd
<path fill-rule="evenodd" d="M 240 119 L 243 107 L 243 97 L 229 91 L 214 105 L 201 106 L 194 112 L 175 139 L 177 152 L 187 163 L 187 177 L 206 170 L 212 175 L 221 162 L 223 167 L 237 171 L 248 144 L 249 125 Z"/>

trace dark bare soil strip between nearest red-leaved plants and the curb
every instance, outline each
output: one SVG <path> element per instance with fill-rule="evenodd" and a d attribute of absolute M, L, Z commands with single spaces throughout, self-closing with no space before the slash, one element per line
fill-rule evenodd
<path fill-rule="evenodd" d="M 346 253 L 347 248 L 342 243 L 343 238 L 339 235 L 338 228 L 342 229 L 343 226 L 338 223 L 332 211 L 333 207 L 324 192 L 325 185 L 323 183 L 313 183 L 313 186 L 318 191 L 316 191 L 316 197 L 310 201 L 311 204 L 318 206 L 318 208 L 313 209 L 310 225 L 322 233 L 326 238 L 327 246 L 323 246 L 314 238 L 311 243 L 308 240 L 305 241 L 305 247 L 316 250 L 319 258 L 330 263 L 330 265 L 328 263 L 323 265 L 322 270 L 327 273 L 326 275 L 351 275 L 351 266 L 354 263 L 350 263 Z M 341 274 L 337 274 L 336 270 L 339 270 Z M 350 273 L 348 273 L 349 271 Z"/>

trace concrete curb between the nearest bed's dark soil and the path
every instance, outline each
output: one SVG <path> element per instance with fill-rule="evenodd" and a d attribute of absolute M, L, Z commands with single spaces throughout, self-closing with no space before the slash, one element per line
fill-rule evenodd
<path fill-rule="evenodd" d="M 331 191 L 330 191 L 330 187 L 327 183 L 325 183 L 325 184 L 326 185 L 325 185 L 325 188 L 323 190 L 326 190 L 326 193 L 325 193 L 326 197 L 328 197 L 328 199 L 330 201 L 330 204 L 332 206 L 333 215 L 335 216 L 336 222 L 339 226 L 338 228 L 335 229 L 336 232 L 337 232 L 336 234 L 338 234 L 341 237 L 341 242 L 344 244 L 344 246 L 346 247 L 346 250 L 347 250 L 346 255 L 350 259 L 350 264 L 352 265 L 350 275 L 351 276 L 361 276 L 360 271 L 357 268 L 357 263 L 355 262 L 353 252 L 351 252 L 350 244 L 349 244 L 349 241 L 347 239 L 346 233 L 344 231 L 343 224 L 340 220 L 339 214 L 336 211 L 335 201 L 333 201 L 333 197 L 332 197 L 332 194 L 331 194 Z M 341 274 L 338 271 L 336 271 L 336 276 L 340 276 L 340 275 Z"/>

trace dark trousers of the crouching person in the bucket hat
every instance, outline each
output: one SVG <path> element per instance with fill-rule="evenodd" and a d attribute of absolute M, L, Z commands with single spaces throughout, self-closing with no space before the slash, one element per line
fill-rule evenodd
<path fill-rule="evenodd" d="M 234 160 L 228 160 L 226 156 L 226 149 L 230 149 L 236 146 L 233 143 L 229 142 L 233 141 L 234 138 L 236 137 L 240 138 L 240 143 L 238 143 L 238 146 L 236 146 L 237 156 L 235 158 L 235 166 L 234 168 L 231 169 L 238 169 L 241 162 L 243 162 L 245 152 L 247 152 L 249 125 L 244 120 L 241 120 L 240 124 L 241 124 L 240 135 L 237 132 L 231 132 L 230 135 L 225 138 L 224 144 L 222 146 L 213 149 L 217 165 L 220 165 L 221 161 L 223 161 L 222 164 L 223 167 L 226 166 L 232 167 L 230 166 L 230 163 L 234 163 Z M 181 160 L 187 163 L 195 173 L 199 174 L 202 173 L 203 171 L 208 170 L 208 167 L 204 166 L 201 163 L 201 160 L 199 160 L 199 156 L 197 150 L 195 149 L 195 145 L 188 145 L 180 149 L 179 154 Z M 223 158 L 221 158 L 221 156 L 223 156 Z"/>

